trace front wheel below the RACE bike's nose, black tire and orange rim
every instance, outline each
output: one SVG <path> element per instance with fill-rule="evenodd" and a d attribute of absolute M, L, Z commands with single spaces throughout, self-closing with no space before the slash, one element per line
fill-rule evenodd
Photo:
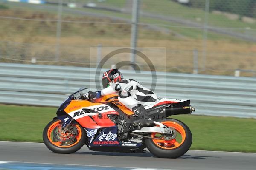
<path fill-rule="evenodd" d="M 86 142 L 86 133 L 84 128 L 78 124 L 71 124 L 70 126 L 74 126 L 76 128 L 77 135 L 72 136 L 71 133 L 63 133 L 64 136 L 67 134 L 69 135 L 66 135 L 67 137 L 70 138 L 71 136 L 74 139 L 72 141 L 73 143 L 70 142 L 67 145 L 62 145 L 65 139 L 59 141 L 58 139 L 52 137 L 57 135 L 56 132 L 59 130 L 58 128 L 60 128 L 61 125 L 61 120 L 54 119 L 51 122 L 49 122 L 48 125 L 46 125 L 46 127 L 44 128 L 43 140 L 44 144 L 48 147 L 48 149 L 55 153 L 74 153 L 77 150 L 81 149 L 81 147 L 83 147 L 84 143 Z"/>

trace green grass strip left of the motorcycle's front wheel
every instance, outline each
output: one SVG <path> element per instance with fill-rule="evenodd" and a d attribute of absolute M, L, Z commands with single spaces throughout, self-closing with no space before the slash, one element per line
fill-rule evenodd
<path fill-rule="evenodd" d="M 44 127 L 55 112 L 56 108 L 0 105 L 0 140 L 42 142 Z"/>

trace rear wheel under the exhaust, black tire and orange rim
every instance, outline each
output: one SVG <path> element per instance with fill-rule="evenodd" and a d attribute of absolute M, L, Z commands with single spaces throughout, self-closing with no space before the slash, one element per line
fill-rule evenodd
<path fill-rule="evenodd" d="M 161 120 L 159 122 L 163 122 L 164 125 L 169 125 L 169 127 L 175 128 L 175 130 L 177 130 L 177 133 L 179 133 L 179 131 L 182 131 L 184 139 L 182 139 L 182 142 L 180 143 L 177 142 L 176 139 L 172 139 L 177 142 L 176 146 L 172 143 L 164 142 L 162 145 L 162 143 L 154 142 L 154 139 L 145 139 L 145 145 L 148 148 L 148 150 L 154 156 L 157 156 L 159 158 L 178 158 L 180 156 L 183 156 L 189 150 L 192 144 L 192 133 L 189 130 L 189 127 L 187 127 L 187 125 L 185 125 L 183 122 L 177 119 L 166 119 L 165 121 Z M 152 135 L 153 133 L 150 136 Z M 172 140 L 170 140 L 170 142 Z M 161 142 L 161 140 L 158 142 Z"/>

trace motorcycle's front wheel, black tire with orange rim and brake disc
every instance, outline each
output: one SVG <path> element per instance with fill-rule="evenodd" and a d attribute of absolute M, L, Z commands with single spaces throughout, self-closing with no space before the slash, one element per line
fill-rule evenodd
<path fill-rule="evenodd" d="M 55 153 L 74 153 L 86 142 L 86 134 L 84 128 L 75 122 L 64 131 L 61 120 L 54 119 L 44 128 L 43 140 Z"/>

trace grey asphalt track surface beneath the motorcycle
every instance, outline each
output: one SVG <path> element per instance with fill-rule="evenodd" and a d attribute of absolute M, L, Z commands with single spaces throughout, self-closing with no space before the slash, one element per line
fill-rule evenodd
<path fill-rule="evenodd" d="M 0 169 L 49 170 L 51 169 L 49 167 L 74 170 L 141 170 L 142 168 L 256 170 L 256 153 L 189 150 L 184 156 L 177 159 L 161 159 L 147 151 L 145 153 L 94 152 L 84 146 L 73 154 L 56 154 L 48 150 L 43 143 L 0 142 Z"/>

